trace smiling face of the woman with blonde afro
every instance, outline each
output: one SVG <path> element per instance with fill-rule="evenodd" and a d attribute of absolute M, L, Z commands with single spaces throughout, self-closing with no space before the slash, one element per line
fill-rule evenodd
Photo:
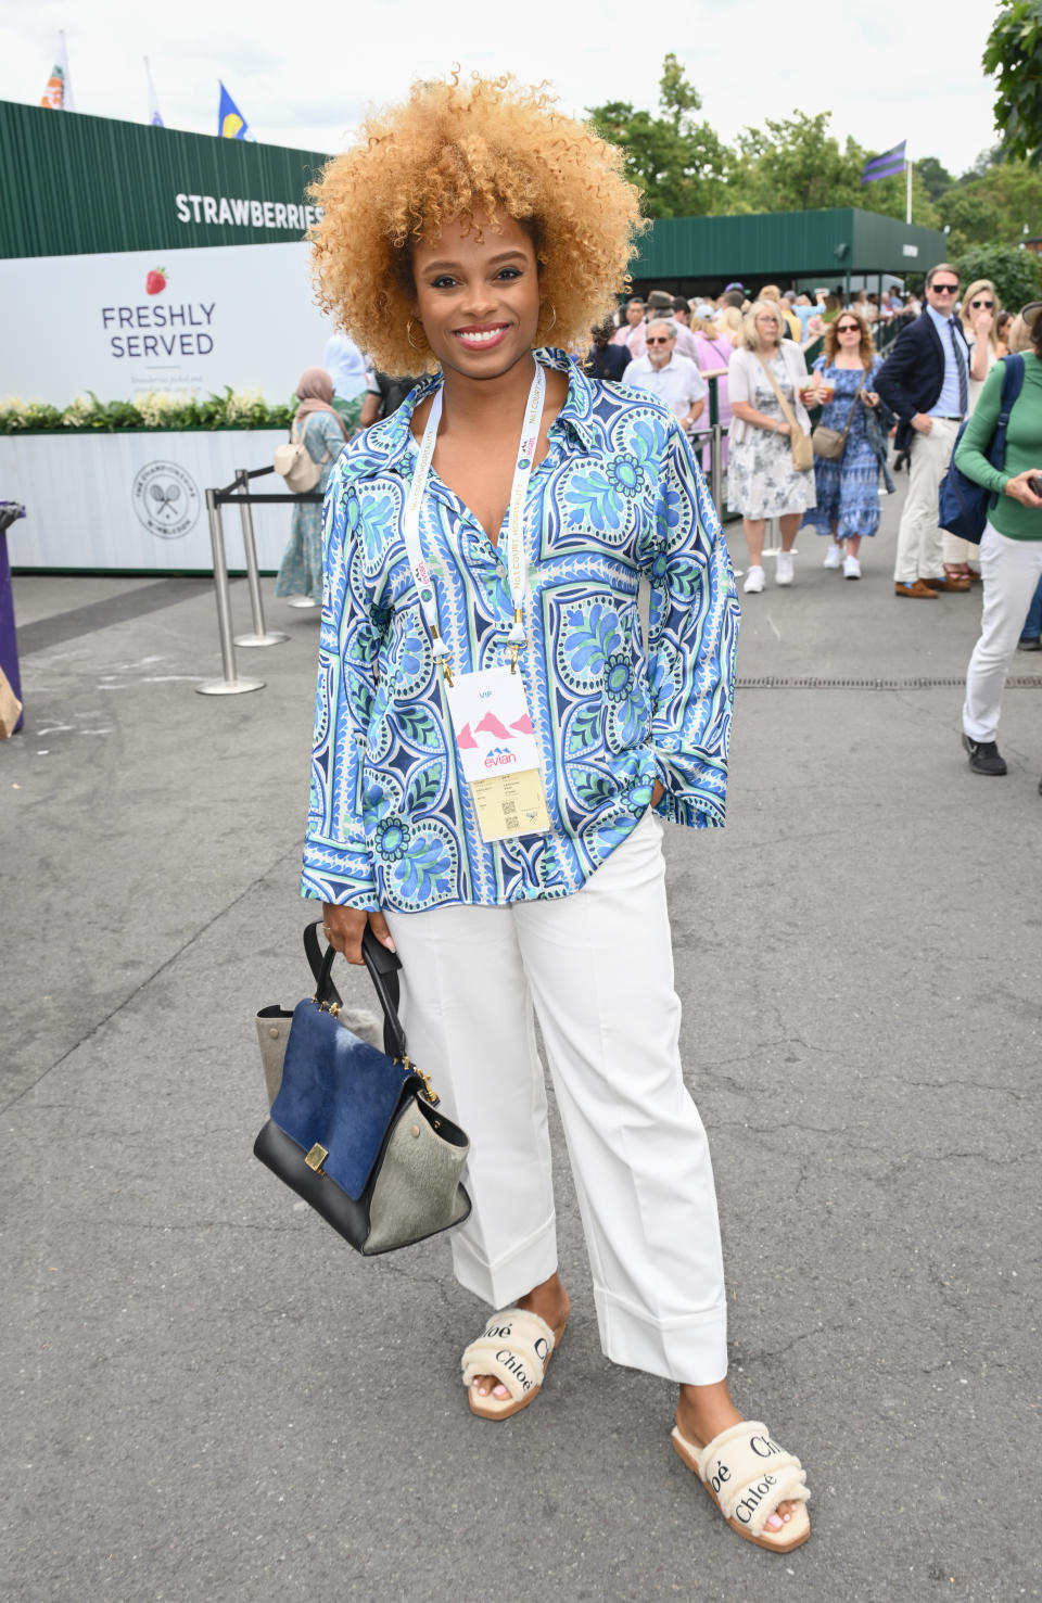
<path fill-rule="evenodd" d="M 444 372 L 499 378 L 531 353 L 539 264 L 505 212 L 481 231 L 457 221 L 426 234 L 412 252 L 412 277 L 417 319 Z"/>

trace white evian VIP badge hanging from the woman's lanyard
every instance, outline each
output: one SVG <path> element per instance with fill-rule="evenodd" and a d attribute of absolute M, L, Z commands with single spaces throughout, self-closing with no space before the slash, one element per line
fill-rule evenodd
<path fill-rule="evenodd" d="M 483 840 L 542 835 L 550 829 L 542 758 L 519 673 L 484 668 L 446 686 L 463 777 Z"/>

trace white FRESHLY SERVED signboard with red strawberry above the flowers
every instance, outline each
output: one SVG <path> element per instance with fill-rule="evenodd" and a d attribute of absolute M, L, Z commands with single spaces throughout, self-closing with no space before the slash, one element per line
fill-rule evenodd
<path fill-rule="evenodd" d="M 303 240 L 0 261 L 0 396 L 285 402 L 332 332 Z"/>

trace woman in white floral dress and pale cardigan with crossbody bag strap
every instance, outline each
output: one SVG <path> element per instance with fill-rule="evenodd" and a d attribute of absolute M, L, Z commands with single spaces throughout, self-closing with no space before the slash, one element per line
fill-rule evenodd
<path fill-rule="evenodd" d="M 794 340 L 782 340 L 777 306 L 773 301 L 755 301 L 745 313 L 742 343 L 731 357 L 728 373 L 734 412 L 728 507 L 742 515 L 745 529 L 745 595 L 763 590 L 763 534 L 768 518 L 777 518 L 781 529 L 777 583 L 792 583 L 792 545 L 803 513 L 814 505 L 814 474 L 798 473 L 792 465 L 792 426 L 768 369 L 789 412 L 810 433 L 810 417 L 798 393 L 800 385 L 806 385 L 803 351 Z"/>

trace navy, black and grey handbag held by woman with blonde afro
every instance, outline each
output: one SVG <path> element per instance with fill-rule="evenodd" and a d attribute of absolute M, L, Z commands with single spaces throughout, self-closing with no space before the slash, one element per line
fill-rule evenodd
<path fill-rule="evenodd" d="M 316 939 L 317 949 L 317 939 Z M 470 1141 L 409 1058 L 398 1016 L 401 960 L 366 927 L 362 959 L 383 1008 L 380 1052 L 337 1018 L 335 947 L 293 1008 L 282 1084 L 253 1156 L 364 1257 L 462 1225 Z M 263 1010 L 261 1016 L 282 1015 Z M 282 1015 L 284 1016 L 284 1015 Z"/>

